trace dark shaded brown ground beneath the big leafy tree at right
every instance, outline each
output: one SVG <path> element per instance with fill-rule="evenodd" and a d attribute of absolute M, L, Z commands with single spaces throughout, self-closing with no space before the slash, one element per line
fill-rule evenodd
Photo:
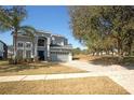
<path fill-rule="evenodd" d="M 123 60 L 119 62 L 118 57 L 104 56 L 104 57 L 97 57 L 95 59 L 89 60 L 89 62 L 93 65 L 100 65 L 104 67 L 110 67 L 112 65 L 120 65 L 129 70 L 134 70 L 134 57 L 124 57 Z"/>

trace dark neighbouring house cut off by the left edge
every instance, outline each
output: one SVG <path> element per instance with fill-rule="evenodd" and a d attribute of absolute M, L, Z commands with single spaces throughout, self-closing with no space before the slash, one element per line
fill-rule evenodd
<path fill-rule="evenodd" d="M 8 46 L 5 43 L 0 41 L 0 59 L 6 59 L 8 58 Z"/>

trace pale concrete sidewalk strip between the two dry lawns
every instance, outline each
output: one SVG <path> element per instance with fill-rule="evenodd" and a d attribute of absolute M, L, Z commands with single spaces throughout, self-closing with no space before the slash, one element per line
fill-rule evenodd
<path fill-rule="evenodd" d="M 36 81 L 36 80 L 62 80 L 86 76 L 104 76 L 102 73 L 66 73 L 66 74 L 40 74 L 40 75 L 13 75 L 0 76 L 0 82 Z"/>

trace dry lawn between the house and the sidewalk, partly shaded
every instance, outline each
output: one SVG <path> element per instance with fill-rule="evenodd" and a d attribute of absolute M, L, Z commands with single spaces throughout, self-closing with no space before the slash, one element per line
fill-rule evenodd
<path fill-rule="evenodd" d="M 30 65 L 9 65 L 8 61 L 0 61 L 0 76 L 3 75 L 30 75 L 30 74 L 54 74 L 85 72 L 71 67 L 62 66 L 55 62 L 38 62 Z"/>

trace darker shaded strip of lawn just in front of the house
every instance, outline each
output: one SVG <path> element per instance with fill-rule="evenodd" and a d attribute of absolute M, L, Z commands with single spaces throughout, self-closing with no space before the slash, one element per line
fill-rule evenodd
<path fill-rule="evenodd" d="M 23 65 L 9 65 L 1 63 L 0 72 L 18 72 L 23 70 L 39 69 L 39 68 L 50 68 L 58 65 L 58 62 L 38 62 L 38 63 L 23 63 Z"/>

